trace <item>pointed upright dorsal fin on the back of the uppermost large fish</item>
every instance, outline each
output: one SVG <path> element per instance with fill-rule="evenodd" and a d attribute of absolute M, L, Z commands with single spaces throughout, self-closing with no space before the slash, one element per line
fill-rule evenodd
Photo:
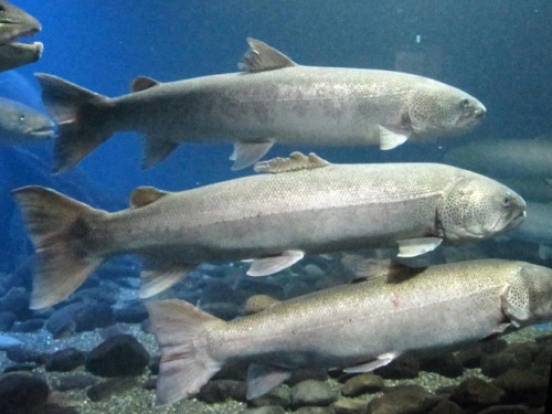
<path fill-rule="evenodd" d="M 284 53 L 270 47 L 264 42 L 253 38 L 247 38 L 250 49 L 237 64 L 240 71 L 255 73 L 264 71 L 274 71 L 283 67 L 296 66 L 294 61 Z"/>

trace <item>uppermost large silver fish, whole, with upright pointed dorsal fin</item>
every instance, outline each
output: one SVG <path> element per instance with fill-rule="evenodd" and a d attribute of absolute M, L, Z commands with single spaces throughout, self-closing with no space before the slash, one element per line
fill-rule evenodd
<path fill-rule="evenodd" d="M 118 131 L 144 135 L 144 168 L 161 162 L 183 141 L 231 141 L 232 169 L 240 170 L 275 142 L 386 150 L 407 139 L 463 134 L 487 110 L 469 94 L 434 79 L 302 66 L 266 43 L 247 42 L 242 72 L 168 83 L 137 77 L 130 94 L 115 98 L 35 74 L 59 126 L 54 172 L 72 168 Z"/>

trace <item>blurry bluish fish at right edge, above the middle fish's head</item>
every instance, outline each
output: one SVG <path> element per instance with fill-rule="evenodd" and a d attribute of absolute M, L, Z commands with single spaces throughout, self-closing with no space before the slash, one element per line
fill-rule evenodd
<path fill-rule="evenodd" d="M 552 136 L 481 139 L 452 148 L 443 161 L 496 178 L 552 179 Z"/>

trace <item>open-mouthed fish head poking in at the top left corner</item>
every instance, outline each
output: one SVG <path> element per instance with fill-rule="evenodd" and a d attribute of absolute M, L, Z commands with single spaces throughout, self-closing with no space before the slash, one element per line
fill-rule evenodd
<path fill-rule="evenodd" d="M 40 60 L 44 50 L 41 42 L 21 43 L 18 40 L 41 30 L 42 25 L 35 18 L 0 0 L 0 72 Z"/>

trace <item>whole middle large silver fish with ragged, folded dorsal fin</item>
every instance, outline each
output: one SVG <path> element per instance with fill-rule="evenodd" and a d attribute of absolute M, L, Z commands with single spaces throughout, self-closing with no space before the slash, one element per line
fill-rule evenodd
<path fill-rule="evenodd" d="M 526 214 L 510 189 L 445 164 L 333 164 L 294 152 L 255 168 L 187 191 L 138 188 L 114 213 L 47 188 L 14 190 L 38 256 L 31 308 L 63 300 L 124 253 L 144 261 L 146 298 L 204 262 L 245 261 L 248 276 L 266 276 L 336 251 L 399 247 L 412 257 L 502 234 Z"/>

